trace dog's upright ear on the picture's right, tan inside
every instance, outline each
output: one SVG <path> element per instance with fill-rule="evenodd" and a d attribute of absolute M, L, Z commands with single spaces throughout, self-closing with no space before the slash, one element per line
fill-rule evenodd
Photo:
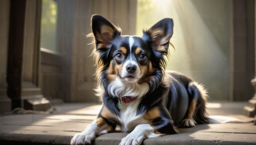
<path fill-rule="evenodd" d="M 164 18 L 147 31 L 143 31 L 143 38 L 152 41 L 153 48 L 161 53 L 167 53 L 173 34 L 172 18 Z"/>

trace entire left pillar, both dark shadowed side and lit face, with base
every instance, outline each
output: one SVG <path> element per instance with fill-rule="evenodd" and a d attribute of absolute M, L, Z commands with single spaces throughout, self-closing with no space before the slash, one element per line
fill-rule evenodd
<path fill-rule="evenodd" d="M 46 111 L 49 100 L 38 87 L 41 1 L 10 1 L 7 77 L 12 109 Z"/>

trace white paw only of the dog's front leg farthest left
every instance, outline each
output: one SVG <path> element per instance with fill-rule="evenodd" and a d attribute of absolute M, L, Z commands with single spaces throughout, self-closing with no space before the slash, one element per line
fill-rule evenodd
<path fill-rule="evenodd" d="M 86 132 L 81 132 L 74 135 L 74 137 L 70 141 L 70 144 L 91 144 L 94 138 L 95 135 L 93 134 L 86 134 Z"/>

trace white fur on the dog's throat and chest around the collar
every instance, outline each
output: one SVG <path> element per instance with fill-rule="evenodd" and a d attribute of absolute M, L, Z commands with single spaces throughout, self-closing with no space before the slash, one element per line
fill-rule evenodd
<path fill-rule="evenodd" d="M 131 132 L 137 125 L 146 123 L 143 119 L 143 114 L 137 115 L 137 108 L 140 104 L 140 98 L 148 92 L 149 86 L 147 83 L 128 83 L 116 77 L 108 86 L 108 92 L 114 97 L 138 97 L 138 99 L 124 103 L 120 110 L 120 122 L 122 123 L 123 132 Z"/>

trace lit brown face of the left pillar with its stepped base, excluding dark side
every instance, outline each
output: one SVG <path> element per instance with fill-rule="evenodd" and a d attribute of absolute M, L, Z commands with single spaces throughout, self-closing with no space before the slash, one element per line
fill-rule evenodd
<path fill-rule="evenodd" d="M 24 109 L 46 111 L 50 107 L 38 86 L 40 68 L 41 1 L 26 1 L 21 99 Z"/>

